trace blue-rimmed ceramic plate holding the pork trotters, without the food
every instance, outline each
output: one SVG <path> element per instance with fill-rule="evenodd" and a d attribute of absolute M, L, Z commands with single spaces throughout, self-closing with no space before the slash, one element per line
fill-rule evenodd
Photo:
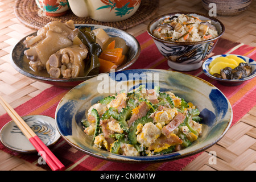
<path fill-rule="evenodd" d="M 76 24 L 76 27 L 90 27 L 91 30 L 94 30 L 96 28 L 102 28 L 105 30 L 105 32 L 110 37 L 119 37 L 125 40 L 127 46 L 129 47 L 128 52 L 126 53 L 127 60 L 125 63 L 118 66 L 116 71 L 122 71 L 123 69 L 129 68 L 135 61 L 138 59 L 139 54 L 141 53 L 141 46 L 139 45 L 139 42 L 137 39 L 134 38 L 134 36 L 130 35 L 129 33 L 119 30 L 117 28 L 108 27 L 108 26 L 101 26 L 97 24 Z M 36 32 L 28 35 L 32 36 L 36 35 Z M 27 37 L 27 36 L 26 36 Z M 24 40 L 26 39 L 24 37 L 22 40 L 20 40 L 13 48 L 11 52 L 11 64 L 13 67 L 18 71 L 19 73 L 22 73 L 22 75 L 25 75 L 27 77 L 30 77 L 36 81 L 45 82 L 47 84 L 52 84 L 60 87 L 65 88 L 73 88 L 74 86 L 80 84 L 81 82 L 88 80 L 89 78 L 92 78 L 94 76 L 86 76 L 86 77 L 77 77 L 77 78 L 51 78 L 47 73 L 41 73 L 40 75 L 34 71 L 32 71 L 24 61 L 24 51 L 27 49 L 24 45 Z"/>

